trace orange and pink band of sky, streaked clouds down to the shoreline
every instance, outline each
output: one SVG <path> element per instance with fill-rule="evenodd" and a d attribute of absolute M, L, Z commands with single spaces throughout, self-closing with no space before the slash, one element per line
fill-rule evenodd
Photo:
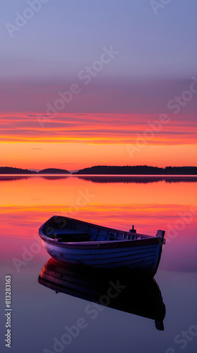
<path fill-rule="evenodd" d="M 158 130 L 158 131 L 157 131 Z M 1 166 L 81 169 L 96 164 L 196 165 L 193 116 L 1 116 Z"/>

